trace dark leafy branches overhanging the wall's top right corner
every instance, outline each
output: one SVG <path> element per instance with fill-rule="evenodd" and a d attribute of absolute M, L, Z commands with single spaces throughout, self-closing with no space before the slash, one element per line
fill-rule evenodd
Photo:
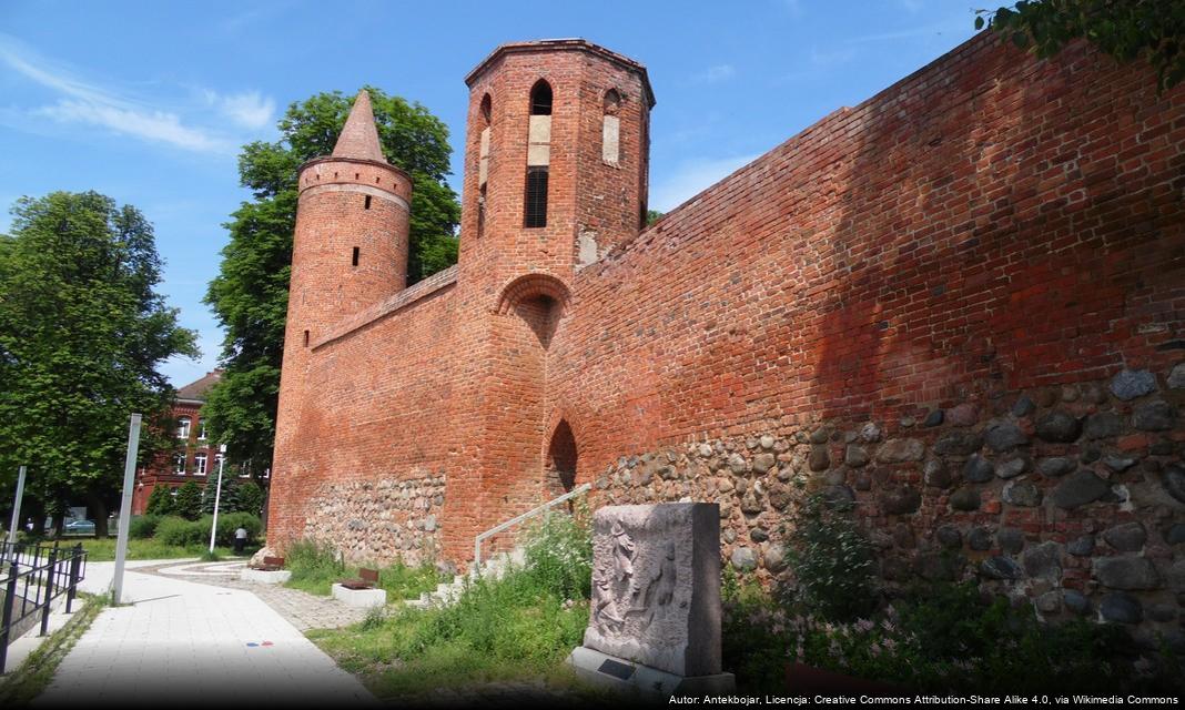
<path fill-rule="evenodd" d="M 1085 38 L 1120 62 L 1147 59 L 1157 88 L 1185 78 L 1185 4 L 1180 0 L 1021 0 L 976 11 L 975 28 L 988 26 L 1038 57 Z"/>

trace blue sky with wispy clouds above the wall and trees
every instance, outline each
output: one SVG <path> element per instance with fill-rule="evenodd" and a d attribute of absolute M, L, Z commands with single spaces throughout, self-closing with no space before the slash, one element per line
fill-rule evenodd
<path fill-rule="evenodd" d="M 363 84 L 418 101 L 462 145 L 465 75 L 504 41 L 583 37 L 645 64 L 651 206 L 668 210 L 973 34 L 961 0 L 742 2 L 25 1 L 0 4 L 0 231 L 20 196 L 96 190 L 155 225 L 160 286 L 216 366 L 201 303 L 249 194 L 236 155 L 284 108 Z M 460 186 L 454 154 L 453 185 Z"/>

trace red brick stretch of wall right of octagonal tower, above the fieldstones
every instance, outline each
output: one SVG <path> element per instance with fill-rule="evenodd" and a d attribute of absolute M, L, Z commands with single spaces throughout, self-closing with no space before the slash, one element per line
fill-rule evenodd
<path fill-rule="evenodd" d="M 581 478 L 1181 359 L 1185 91 L 1153 85 L 975 39 L 581 271 L 547 382 Z"/>

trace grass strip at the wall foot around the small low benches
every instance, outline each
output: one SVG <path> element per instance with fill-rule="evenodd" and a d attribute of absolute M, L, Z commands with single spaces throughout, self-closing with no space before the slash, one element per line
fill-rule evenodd
<path fill-rule="evenodd" d="M 384 568 L 373 564 L 360 567 L 378 569 L 378 586 L 386 589 L 387 599 L 392 601 L 418 597 L 421 593 L 436 589 L 436 584 L 446 581 L 430 562 L 417 567 L 402 562 Z M 338 555 L 332 549 L 310 542 L 300 542 L 289 548 L 284 555 L 284 569 L 293 574 L 284 583 L 286 587 L 320 596 L 329 596 L 334 582 L 358 574 L 356 568 L 339 563 Z"/>

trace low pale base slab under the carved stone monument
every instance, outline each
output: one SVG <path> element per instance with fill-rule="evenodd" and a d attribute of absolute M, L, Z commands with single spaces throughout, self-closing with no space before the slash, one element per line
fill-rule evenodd
<path fill-rule="evenodd" d="M 732 692 L 737 686 L 732 673 L 679 676 L 584 646 L 574 648 L 566 663 L 578 677 L 589 683 L 647 698 L 717 696 Z"/>

